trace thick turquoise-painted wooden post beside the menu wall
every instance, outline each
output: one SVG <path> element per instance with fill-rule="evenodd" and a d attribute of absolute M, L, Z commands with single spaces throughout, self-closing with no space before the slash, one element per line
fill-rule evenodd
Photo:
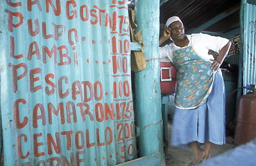
<path fill-rule="evenodd" d="M 135 73 L 136 124 L 140 129 L 139 154 L 149 156 L 156 151 L 162 154 L 162 113 L 159 55 L 159 1 L 140 0 L 135 4 L 137 30 L 142 30 L 142 42 L 147 67 Z"/>

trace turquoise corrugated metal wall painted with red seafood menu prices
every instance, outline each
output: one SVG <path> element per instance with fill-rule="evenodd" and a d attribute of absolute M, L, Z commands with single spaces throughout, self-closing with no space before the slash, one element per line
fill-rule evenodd
<path fill-rule="evenodd" d="M 126 1 L 0 0 L 4 165 L 136 158 Z"/>

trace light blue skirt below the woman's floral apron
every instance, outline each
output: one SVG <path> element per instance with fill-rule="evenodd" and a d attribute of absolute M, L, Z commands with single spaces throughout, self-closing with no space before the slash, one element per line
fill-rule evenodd
<path fill-rule="evenodd" d="M 215 73 L 212 92 L 205 104 L 196 109 L 174 111 L 171 145 L 189 147 L 194 141 L 225 144 L 225 85 L 220 69 Z"/>

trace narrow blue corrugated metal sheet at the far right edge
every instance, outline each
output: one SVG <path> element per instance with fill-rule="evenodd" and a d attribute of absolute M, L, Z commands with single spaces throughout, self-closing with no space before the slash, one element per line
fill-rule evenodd
<path fill-rule="evenodd" d="M 256 6 L 253 3 L 244 3 L 242 14 L 243 37 L 243 81 L 246 84 L 256 83 Z M 245 94 L 246 92 L 244 92 Z"/>

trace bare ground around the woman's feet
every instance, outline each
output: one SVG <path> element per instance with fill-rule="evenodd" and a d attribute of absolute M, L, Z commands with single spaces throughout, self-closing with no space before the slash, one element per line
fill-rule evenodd
<path fill-rule="evenodd" d="M 168 129 L 169 129 L 168 133 L 170 137 L 171 122 L 169 122 L 168 124 Z M 235 146 L 233 142 L 233 136 L 232 135 L 227 136 L 225 145 L 214 145 L 212 149 L 211 157 L 220 155 L 225 151 L 233 149 L 234 147 Z M 167 166 L 186 166 L 193 160 L 193 158 L 194 158 L 194 154 L 192 149 L 173 147 L 169 145 L 168 154 L 166 154 L 166 165 Z"/>

